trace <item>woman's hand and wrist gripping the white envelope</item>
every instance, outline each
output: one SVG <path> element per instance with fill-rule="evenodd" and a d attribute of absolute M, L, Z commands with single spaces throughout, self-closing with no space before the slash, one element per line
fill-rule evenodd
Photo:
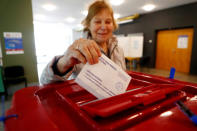
<path fill-rule="evenodd" d="M 68 48 L 58 61 L 57 68 L 61 73 L 64 73 L 75 64 L 85 64 L 86 62 L 96 64 L 100 56 L 101 51 L 95 41 L 81 38 Z"/>

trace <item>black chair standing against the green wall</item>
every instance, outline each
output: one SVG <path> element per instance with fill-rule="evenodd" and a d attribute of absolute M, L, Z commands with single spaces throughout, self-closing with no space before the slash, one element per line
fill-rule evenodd
<path fill-rule="evenodd" d="M 24 76 L 23 66 L 9 66 L 4 68 L 3 81 L 5 85 L 5 93 L 7 93 L 7 86 L 24 82 L 27 87 L 27 79 Z"/>

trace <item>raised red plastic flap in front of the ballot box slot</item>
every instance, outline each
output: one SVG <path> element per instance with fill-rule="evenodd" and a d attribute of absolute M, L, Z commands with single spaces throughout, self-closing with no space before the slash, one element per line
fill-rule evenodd
<path fill-rule="evenodd" d="M 166 86 L 166 87 L 165 87 Z M 165 99 L 168 94 L 182 88 L 178 85 L 152 85 L 141 92 L 127 92 L 100 101 L 82 105 L 82 109 L 92 116 L 108 117 L 128 108 L 144 106 Z"/>

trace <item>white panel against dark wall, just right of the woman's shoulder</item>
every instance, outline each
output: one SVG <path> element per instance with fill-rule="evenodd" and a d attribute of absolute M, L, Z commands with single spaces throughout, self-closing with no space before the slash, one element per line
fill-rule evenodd
<path fill-rule="evenodd" d="M 118 44 L 123 48 L 125 57 L 142 57 L 143 56 L 143 41 L 142 33 L 129 34 L 128 36 L 119 35 Z"/>

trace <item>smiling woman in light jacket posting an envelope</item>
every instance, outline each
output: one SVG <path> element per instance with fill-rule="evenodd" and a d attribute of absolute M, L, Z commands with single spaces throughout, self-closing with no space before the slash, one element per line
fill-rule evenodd
<path fill-rule="evenodd" d="M 95 1 L 89 6 L 82 24 L 86 38 L 74 41 L 64 55 L 56 56 L 46 66 L 41 75 L 42 84 L 74 79 L 86 62 L 91 65 L 98 63 L 101 53 L 126 69 L 123 50 L 112 34 L 118 27 L 112 7 L 105 0 Z"/>

